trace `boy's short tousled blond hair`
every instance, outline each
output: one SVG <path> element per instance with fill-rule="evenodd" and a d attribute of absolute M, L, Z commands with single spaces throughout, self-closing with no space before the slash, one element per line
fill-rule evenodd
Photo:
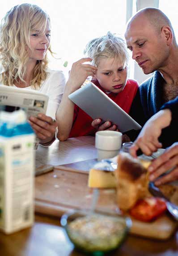
<path fill-rule="evenodd" d="M 126 67 L 129 53 L 123 38 L 108 32 L 106 35 L 91 40 L 84 50 L 84 54 L 92 59 L 92 64 L 98 65 L 101 59 L 115 58 Z"/>

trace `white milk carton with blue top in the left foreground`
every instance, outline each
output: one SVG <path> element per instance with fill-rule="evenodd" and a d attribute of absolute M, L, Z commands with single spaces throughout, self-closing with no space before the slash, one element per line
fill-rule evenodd
<path fill-rule="evenodd" d="M 0 112 L 0 230 L 34 221 L 34 132 L 22 110 Z"/>

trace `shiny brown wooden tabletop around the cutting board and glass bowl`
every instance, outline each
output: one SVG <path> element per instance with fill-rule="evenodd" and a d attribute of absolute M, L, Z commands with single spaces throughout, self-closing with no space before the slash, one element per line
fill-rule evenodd
<path fill-rule="evenodd" d="M 47 164 L 68 167 L 84 166 L 96 158 L 93 137 L 72 138 L 55 142 L 48 149 L 39 147 L 37 160 Z M 75 164 L 76 162 L 76 164 Z M 59 218 L 35 214 L 34 226 L 12 235 L 0 233 L 0 256 L 81 256 L 74 250 Z M 178 232 L 169 240 L 157 241 L 129 235 L 123 246 L 113 256 L 177 256 Z"/>

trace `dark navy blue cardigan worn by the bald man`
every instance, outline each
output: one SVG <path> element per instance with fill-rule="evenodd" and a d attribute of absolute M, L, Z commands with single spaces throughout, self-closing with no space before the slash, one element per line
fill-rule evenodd
<path fill-rule="evenodd" d="M 156 114 L 163 105 L 162 94 L 163 94 L 163 83 L 164 79 L 161 73 L 158 71 L 154 72 L 153 76 L 144 81 L 137 91 L 136 97 L 131 106 L 129 115 L 136 120 L 141 126 L 146 121 Z M 173 106 L 171 108 L 171 106 Z M 170 101 L 165 103 L 163 108 L 170 108 L 171 111 L 174 108 L 174 116 L 171 121 L 171 125 L 168 128 L 163 129 L 159 141 L 163 144 L 163 147 L 168 147 L 174 142 L 178 141 L 178 100 Z M 139 132 L 128 132 L 127 135 L 131 140 L 135 140 Z"/>

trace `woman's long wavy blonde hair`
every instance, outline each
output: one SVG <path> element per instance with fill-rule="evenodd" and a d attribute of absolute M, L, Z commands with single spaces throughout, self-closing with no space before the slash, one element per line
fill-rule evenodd
<path fill-rule="evenodd" d="M 46 12 L 34 4 L 19 4 L 6 13 L 0 25 L 0 81 L 4 85 L 14 85 L 23 81 L 29 60 L 30 33 L 45 31 L 50 18 Z M 49 51 L 52 53 L 51 48 Z M 38 88 L 47 77 L 47 55 L 38 60 L 30 85 Z"/>

